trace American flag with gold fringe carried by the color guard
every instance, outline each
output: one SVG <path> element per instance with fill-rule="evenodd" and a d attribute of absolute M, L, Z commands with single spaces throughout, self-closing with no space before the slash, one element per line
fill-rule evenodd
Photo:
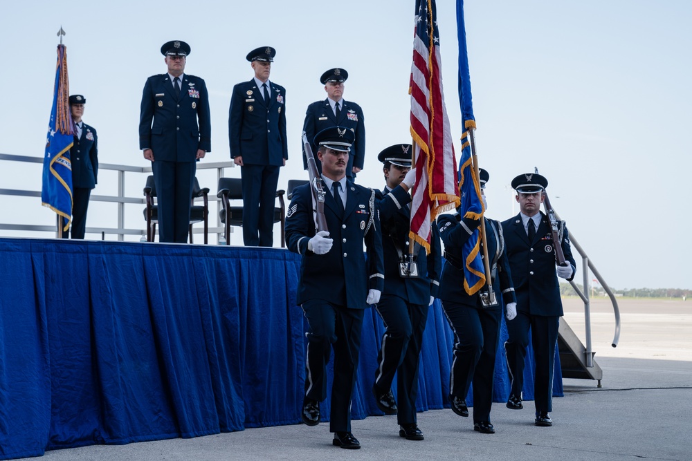
<path fill-rule="evenodd" d="M 442 91 L 434 0 L 416 0 L 409 92 L 416 164 L 410 236 L 430 250 L 430 221 L 459 205 L 457 162 Z"/>

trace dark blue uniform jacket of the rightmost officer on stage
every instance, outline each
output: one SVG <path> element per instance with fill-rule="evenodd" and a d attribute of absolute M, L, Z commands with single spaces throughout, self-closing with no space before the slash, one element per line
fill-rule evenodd
<path fill-rule="evenodd" d="M 351 146 L 348 164 L 346 165 L 346 176 L 353 179 L 356 177 L 353 172 L 353 167 L 363 169 L 363 162 L 365 160 L 365 124 L 363 122 L 363 109 L 355 102 L 343 99 L 339 104 L 343 104 L 343 107 L 340 108 L 339 120 L 336 120 L 336 115 L 334 115 L 334 111 L 331 110 L 329 100 L 327 99 L 313 102 L 307 106 L 305 121 L 303 122 L 303 131 L 310 142 L 317 169 L 320 173 L 322 172 L 322 163 L 317 158 L 317 149 L 319 146 L 313 144 L 315 135 L 331 126 L 340 126 L 353 131 L 354 135 L 356 135 L 356 140 Z M 302 152 L 302 143 L 300 149 Z M 304 155 L 302 156 L 302 160 L 303 169 L 307 169 L 307 160 Z"/>

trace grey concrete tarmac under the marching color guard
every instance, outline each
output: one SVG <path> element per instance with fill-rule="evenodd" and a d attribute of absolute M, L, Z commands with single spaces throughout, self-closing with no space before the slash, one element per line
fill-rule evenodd
<path fill-rule="evenodd" d="M 565 299 L 565 319 L 584 341 L 583 304 Z M 246 429 L 194 439 L 48 451 L 46 461 L 91 460 L 692 460 L 692 302 L 619 300 L 621 338 L 606 299 L 592 301 L 592 341 L 603 368 L 594 381 L 565 379 L 552 427 L 523 410 L 493 404 L 495 434 L 451 410 L 419 413 L 425 440 L 399 437 L 396 416 L 352 423 L 360 450 L 331 444 L 329 424 Z M 470 409 L 473 411 L 473 409 Z M 28 458 L 36 459 L 36 458 Z"/>

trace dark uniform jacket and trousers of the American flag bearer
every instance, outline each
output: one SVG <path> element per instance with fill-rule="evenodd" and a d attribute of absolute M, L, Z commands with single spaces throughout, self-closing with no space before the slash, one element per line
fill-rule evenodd
<path fill-rule="evenodd" d="M 397 374 L 397 421 L 416 422 L 418 365 L 423 332 L 428 320 L 430 296 L 437 295 L 441 254 L 437 226 L 432 223 L 430 253 L 416 243 L 415 258 L 419 277 L 399 275 L 399 253 L 409 252 L 408 232 L 411 196 L 400 186 L 376 192 L 382 224 L 382 247 L 385 260 L 385 290 L 376 305 L 385 324 L 385 333 L 377 355 L 375 386 L 380 393 L 392 387 Z M 399 249 L 399 250 L 397 250 Z"/>

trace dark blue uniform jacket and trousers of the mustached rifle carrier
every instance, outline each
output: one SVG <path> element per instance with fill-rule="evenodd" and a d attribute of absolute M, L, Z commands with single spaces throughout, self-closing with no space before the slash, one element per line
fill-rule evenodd
<path fill-rule="evenodd" d="M 293 190 L 286 214 L 286 243 L 289 250 L 302 255 L 296 303 L 309 324 L 305 395 L 317 401 L 327 397 L 325 374 L 333 345 L 329 430 L 351 431 L 351 398 L 363 312 L 368 307 L 365 300 L 368 290 L 382 291 L 384 287 L 380 221 L 374 191 L 347 182 L 345 211 L 340 211 L 327 189 L 325 217 L 334 246 L 327 254 L 315 254 L 308 250 L 308 242 L 315 235 L 310 187 Z"/>

